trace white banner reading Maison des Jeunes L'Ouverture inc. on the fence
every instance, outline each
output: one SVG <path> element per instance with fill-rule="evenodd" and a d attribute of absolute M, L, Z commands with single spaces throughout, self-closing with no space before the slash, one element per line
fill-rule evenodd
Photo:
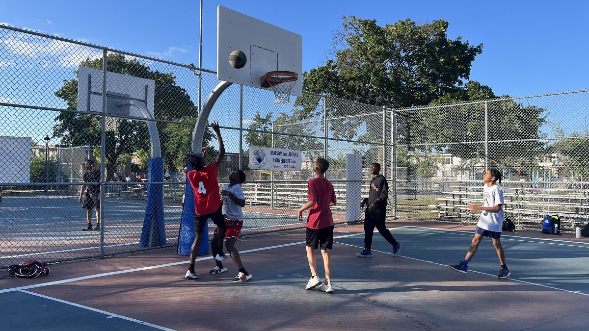
<path fill-rule="evenodd" d="M 299 171 L 301 153 L 283 148 L 250 146 L 250 169 Z"/>

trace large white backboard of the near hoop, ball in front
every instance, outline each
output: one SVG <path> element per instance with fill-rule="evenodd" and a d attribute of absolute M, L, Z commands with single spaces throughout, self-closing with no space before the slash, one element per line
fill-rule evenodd
<path fill-rule="evenodd" d="M 245 67 L 231 67 L 229 54 L 233 51 L 241 51 L 246 55 Z M 229 8 L 217 7 L 219 80 L 263 88 L 260 78 L 266 72 L 293 71 L 299 75 L 299 79 L 290 94 L 300 97 L 303 94 L 302 69 L 303 38 L 300 35 Z"/>

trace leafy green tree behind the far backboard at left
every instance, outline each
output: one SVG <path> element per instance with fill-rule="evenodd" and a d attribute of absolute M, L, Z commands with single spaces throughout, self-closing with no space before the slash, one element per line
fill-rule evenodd
<path fill-rule="evenodd" d="M 102 69 L 102 58 L 85 59 L 80 65 Z M 109 54 L 107 70 L 120 74 L 133 75 L 155 81 L 154 117 L 161 120 L 196 122 L 197 107 L 190 100 L 184 88 L 176 85 L 176 77 L 171 73 L 154 71 L 137 59 L 127 59 L 122 54 Z M 78 81 L 64 80 L 57 97 L 62 98 L 67 109 L 77 108 Z M 73 112 L 61 112 L 55 120 L 53 137 L 63 138 L 65 145 L 101 145 L 101 117 Z M 171 170 L 176 170 L 183 163 L 178 163 L 179 155 L 186 155 L 190 150 L 192 127 L 187 130 L 172 130 L 173 124 L 157 123 L 161 154 Z M 177 124 L 176 124 L 177 125 Z M 209 131 L 209 130 L 207 130 Z M 210 141 L 211 134 L 205 135 L 205 142 Z M 149 150 L 150 143 L 147 125 L 143 121 L 119 120 L 114 132 L 107 131 L 105 164 L 107 173 L 113 173 L 120 155 L 133 154 L 139 149 Z M 171 142 L 174 143 L 171 143 Z M 188 142 L 188 143 L 186 143 Z M 177 143 L 177 144 L 176 144 Z"/>

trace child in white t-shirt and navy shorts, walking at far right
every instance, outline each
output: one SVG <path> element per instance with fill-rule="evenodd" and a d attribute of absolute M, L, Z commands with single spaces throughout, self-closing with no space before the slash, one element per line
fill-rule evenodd
<path fill-rule="evenodd" d="M 505 251 L 503 250 L 503 246 L 501 246 L 501 241 L 499 240 L 501 237 L 501 230 L 503 229 L 504 203 L 503 190 L 501 190 L 501 187 L 495 184 L 495 182 L 501 184 L 501 177 L 501 172 L 496 169 L 487 170 L 485 176 L 482 177 L 482 181 L 485 182 L 485 186 L 483 188 L 484 204 L 482 207 L 475 204 L 468 206 L 469 210 L 482 210 L 481 217 L 477 223 L 477 229 L 475 229 L 475 236 L 472 238 L 471 247 L 468 249 L 464 260 L 459 264 L 450 266 L 452 270 L 455 270 L 459 273 L 467 273 L 468 262 L 472 259 L 475 253 L 477 253 L 477 249 L 479 244 L 481 244 L 482 238 L 491 237 L 493 240 L 493 246 L 495 247 L 495 250 L 497 250 L 499 263 L 501 264 L 501 269 L 499 270 L 497 278 L 506 279 L 511 274 L 507 268 L 507 264 L 505 263 Z"/>

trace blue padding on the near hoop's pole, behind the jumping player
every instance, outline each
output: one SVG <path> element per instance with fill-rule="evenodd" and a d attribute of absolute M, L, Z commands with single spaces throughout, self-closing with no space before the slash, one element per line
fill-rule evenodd
<path fill-rule="evenodd" d="M 178 233 L 178 255 L 189 256 L 190 248 L 194 242 L 194 191 L 188 180 L 188 171 L 193 168 L 186 165 L 186 188 L 184 188 L 184 201 L 182 204 L 182 219 L 180 221 L 180 233 Z M 209 220 L 204 226 L 203 241 L 198 248 L 198 255 L 209 254 Z"/>

